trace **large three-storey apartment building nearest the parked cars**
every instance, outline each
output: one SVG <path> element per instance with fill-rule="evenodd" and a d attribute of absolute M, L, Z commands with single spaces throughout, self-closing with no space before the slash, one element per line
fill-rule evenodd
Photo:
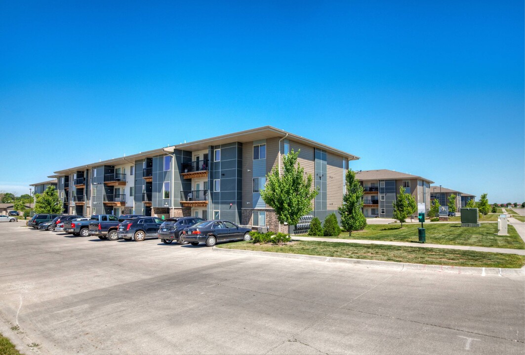
<path fill-rule="evenodd" d="M 349 162 L 359 157 L 271 126 L 58 170 L 50 177 L 58 179 L 68 213 L 196 216 L 288 231 L 260 190 L 291 149 L 300 150 L 298 162 L 319 189 L 311 214 L 324 220 L 341 205 Z"/>

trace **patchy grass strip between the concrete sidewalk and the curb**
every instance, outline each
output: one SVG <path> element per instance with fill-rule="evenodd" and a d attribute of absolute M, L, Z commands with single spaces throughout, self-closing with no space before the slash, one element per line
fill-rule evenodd
<path fill-rule="evenodd" d="M 349 259 L 381 260 L 427 265 L 519 268 L 522 267 L 525 262 L 525 256 L 516 254 L 337 242 L 295 241 L 287 245 L 271 245 L 253 244 L 243 241 L 219 244 L 217 248 L 347 257 Z"/>

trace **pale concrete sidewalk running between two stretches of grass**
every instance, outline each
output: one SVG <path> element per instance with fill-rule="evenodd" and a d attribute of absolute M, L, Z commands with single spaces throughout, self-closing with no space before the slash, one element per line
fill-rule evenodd
<path fill-rule="evenodd" d="M 315 236 L 292 236 L 292 240 L 316 241 L 316 242 L 335 242 L 335 243 L 356 243 L 356 244 L 381 244 L 397 246 L 415 246 L 416 248 L 439 248 L 439 249 L 456 249 L 472 250 L 478 252 L 491 252 L 502 254 L 525 255 L 524 249 L 505 249 L 505 248 L 485 248 L 484 246 L 464 246 L 464 245 L 442 245 L 442 244 L 421 244 L 410 242 L 387 242 L 378 240 L 360 240 L 360 239 L 336 239 L 336 238 L 319 238 Z"/>

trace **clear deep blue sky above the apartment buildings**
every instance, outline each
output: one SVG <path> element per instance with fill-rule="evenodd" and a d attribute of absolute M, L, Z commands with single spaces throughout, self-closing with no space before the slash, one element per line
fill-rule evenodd
<path fill-rule="evenodd" d="M 272 125 L 525 200 L 523 1 L 0 2 L 0 190 Z"/>

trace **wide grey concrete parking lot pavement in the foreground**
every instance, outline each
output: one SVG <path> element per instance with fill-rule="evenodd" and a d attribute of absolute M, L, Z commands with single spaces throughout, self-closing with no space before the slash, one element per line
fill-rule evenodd
<path fill-rule="evenodd" d="M 523 276 L 236 255 L 22 226 L 0 224 L 0 332 L 27 353 L 525 353 Z"/>

